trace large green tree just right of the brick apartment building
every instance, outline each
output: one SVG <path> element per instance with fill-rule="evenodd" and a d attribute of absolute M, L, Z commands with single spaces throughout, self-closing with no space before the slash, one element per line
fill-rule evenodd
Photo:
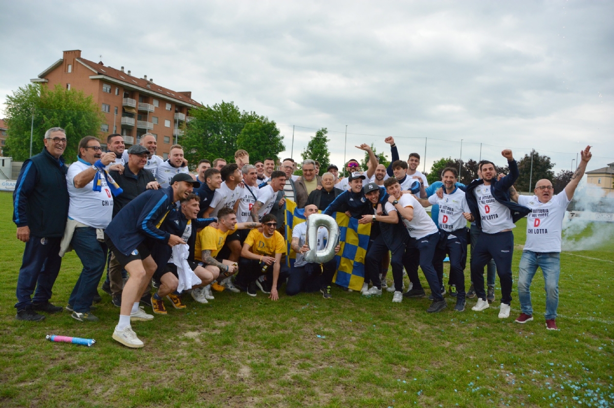
<path fill-rule="evenodd" d="M 265 157 L 278 159 L 279 152 L 285 149 L 274 121 L 253 111 L 241 111 L 234 102 L 196 107 L 189 115 L 193 119 L 186 124 L 185 136 L 179 143 L 191 167 L 200 159 L 213 161 L 222 157 L 234 162 L 238 149 L 248 151 L 252 163 Z"/>

